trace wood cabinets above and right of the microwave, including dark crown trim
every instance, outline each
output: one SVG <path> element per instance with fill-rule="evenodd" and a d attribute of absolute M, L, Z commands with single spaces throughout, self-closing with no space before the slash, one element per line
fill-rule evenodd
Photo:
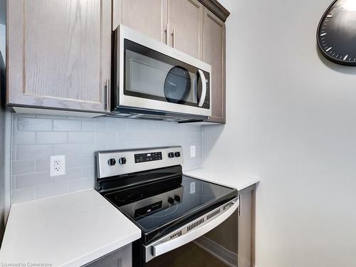
<path fill-rule="evenodd" d="M 211 65 L 212 116 L 225 123 L 225 23 L 216 0 L 113 0 L 112 29 L 122 23 Z"/>

